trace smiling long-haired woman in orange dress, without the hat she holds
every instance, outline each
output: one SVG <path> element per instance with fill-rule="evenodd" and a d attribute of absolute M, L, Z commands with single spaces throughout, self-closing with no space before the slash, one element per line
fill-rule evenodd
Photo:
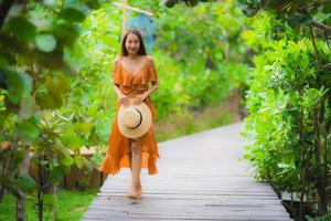
<path fill-rule="evenodd" d="M 127 196 L 140 199 L 142 192 L 141 168 L 148 168 L 149 175 L 157 173 L 156 162 L 160 157 L 153 130 L 156 109 L 149 98 L 149 95 L 159 87 L 158 76 L 153 60 L 146 53 L 142 36 L 138 30 L 131 29 L 122 38 L 120 57 L 115 60 L 113 83 L 119 97 L 117 115 L 120 105 L 138 105 L 143 102 L 151 110 L 152 126 L 141 137 L 127 138 L 118 129 L 116 115 L 109 136 L 109 147 L 99 170 L 115 175 L 119 172 L 120 168 L 129 167 L 131 186 Z"/>

